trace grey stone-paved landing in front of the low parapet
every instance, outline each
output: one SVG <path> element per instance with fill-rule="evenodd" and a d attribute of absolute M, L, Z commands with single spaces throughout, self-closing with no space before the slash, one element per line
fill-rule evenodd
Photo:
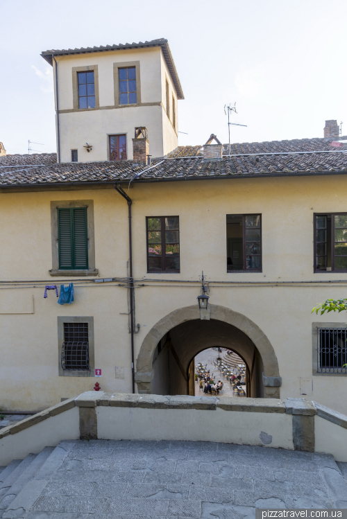
<path fill-rule="evenodd" d="M 63 441 L 3 518 L 242 519 L 255 507 L 346 508 L 346 466 L 331 455 L 226 443 Z"/>

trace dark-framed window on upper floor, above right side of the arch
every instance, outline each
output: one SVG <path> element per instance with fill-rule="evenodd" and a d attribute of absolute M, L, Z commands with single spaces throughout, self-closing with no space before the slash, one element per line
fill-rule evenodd
<path fill-rule="evenodd" d="M 226 215 L 228 272 L 261 272 L 261 215 Z"/>

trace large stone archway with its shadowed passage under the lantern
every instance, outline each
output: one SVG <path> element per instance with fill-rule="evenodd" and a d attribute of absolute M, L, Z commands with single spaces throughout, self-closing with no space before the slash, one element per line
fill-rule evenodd
<path fill-rule="evenodd" d="M 210 305 L 209 317 L 201 319 L 197 306 L 187 306 L 153 326 L 137 357 L 138 392 L 189 394 L 187 373 L 192 358 L 203 349 L 221 346 L 244 358 L 251 378 L 248 396 L 279 398 L 276 354 L 257 324 L 217 305 Z"/>

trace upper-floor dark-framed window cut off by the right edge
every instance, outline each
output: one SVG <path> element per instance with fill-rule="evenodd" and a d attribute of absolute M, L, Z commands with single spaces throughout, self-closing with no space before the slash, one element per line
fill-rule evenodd
<path fill-rule="evenodd" d="M 347 213 L 314 215 L 315 272 L 347 272 Z"/>

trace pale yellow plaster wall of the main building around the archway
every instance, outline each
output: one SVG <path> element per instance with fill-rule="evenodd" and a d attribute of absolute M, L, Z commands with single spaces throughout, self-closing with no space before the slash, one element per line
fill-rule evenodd
<path fill-rule="evenodd" d="M 180 216 L 180 274 L 150 274 L 151 279 L 196 280 L 204 271 L 208 281 L 271 281 L 269 286 L 214 286 L 212 304 L 235 310 L 251 319 L 268 337 L 282 376 L 280 398 L 300 396 L 300 378 L 313 378 L 312 399 L 347 412 L 346 375 L 312 376 L 312 322 L 326 317 L 311 314 L 328 297 L 341 297 L 346 282 L 276 285 L 278 281 L 334 281 L 347 275 L 313 274 L 313 213 L 346 211 L 346 177 L 289 177 L 235 179 L 163 184 L 137 184 L 133 199 L 133 269 L 146 274 L 146 216 Z M 102 278 L 126 276 L 128 260 L 128 206 L 115 190 L 0 193 L 1 281 L 60 283 L 51 278 L 51 200 L 94 200 L 96 268 Z M 262 214 L 262 273 L 226 272 L 226 214 Z M 110 392 L 131 392 L 130 335 L 126 289 L 118 283 L 78 286 L 75 302 L 59 306 L 35 283 L 28 290 L 35 313 L 0 313 L 0 407 L 4 410 L 42 409 L 92 389 L 93 378 L 58 376 L 58 315 L 93 316 L 95 365 L 103 370 L 97 380 Z M 137 288 L 135 360 L 144 337 L 162 317 L 177 308 L 196 304 L 198 284 L 146 282 Z M 1 290 L 18 298 L 21 290 Z M 13 295 L 17 294 L 17 295 Z M 11 303 L 12 304 L 12 303 Z M 22 305 L 22 306 L 21 306 Z M 30 308 L 29 308 L 30 310 Z M 344 315 L 331 322 L 344 323 Z M 115 378 L 115 366 L 125 378 Z"/>

